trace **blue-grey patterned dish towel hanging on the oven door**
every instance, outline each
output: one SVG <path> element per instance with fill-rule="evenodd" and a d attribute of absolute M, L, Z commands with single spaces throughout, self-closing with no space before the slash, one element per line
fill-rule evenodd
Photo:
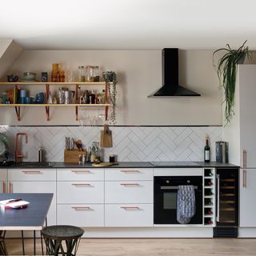
<path fill-rule="evenodd" d="M 177 221 L 187 224 L 195 214 L 194 186 L 178 186 Z"/>

